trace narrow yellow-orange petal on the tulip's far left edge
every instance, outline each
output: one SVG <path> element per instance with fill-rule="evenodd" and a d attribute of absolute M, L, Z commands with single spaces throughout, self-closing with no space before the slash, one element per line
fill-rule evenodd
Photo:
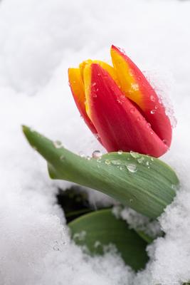
<path fill-rule="evenodd" d="M 68 68 L 68 80 L 70 83 L 70 89 L 73 94 L 73 98 L 78 107 L 80 115 L 85 120 L 85 123 L 88 125 L 88 128 L 94 133 L 97 134 L 95 126 L 91 122 L 85 110 L 85 90 L 83 79 L 80 74 L 79 68 Z"/>

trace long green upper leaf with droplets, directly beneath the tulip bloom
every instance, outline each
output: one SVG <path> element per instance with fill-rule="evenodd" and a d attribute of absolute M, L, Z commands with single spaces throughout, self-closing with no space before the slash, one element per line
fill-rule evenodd
<path fill-rule="evenodd" d="M 23 133 L 47 160 L 53 179 L 99 190 L 150 218 L 159 217 L 176 195 L 179 180 L 174 170 L 157 158 L 110 152 L 101 159 L 88 160 L 28 127 L 23 127 Z"/>

